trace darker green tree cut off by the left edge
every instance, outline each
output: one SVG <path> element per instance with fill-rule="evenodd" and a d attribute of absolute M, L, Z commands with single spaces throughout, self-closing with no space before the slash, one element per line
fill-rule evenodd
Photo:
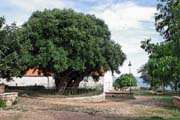
<path fill-rule="evenodd" d="M 29 44 L 21 39 L 21 30 L 13 23 L 5 25 L 5 19 L 0 17 L 0 77 L 11 79 L 21 76 L 27 67 L 24 60 Z"/>

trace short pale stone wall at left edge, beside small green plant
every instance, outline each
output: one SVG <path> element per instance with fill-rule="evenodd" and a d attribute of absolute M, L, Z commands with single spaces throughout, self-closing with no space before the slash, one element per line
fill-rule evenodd
<path fill-rule="evenodd" d="M 18 99 L 17 92 L 0 94 L 0 101 L 4 101 L 6 103 L 6 106 L 11 106 L 14 102 L 17 101 L 17 99 Z"/>

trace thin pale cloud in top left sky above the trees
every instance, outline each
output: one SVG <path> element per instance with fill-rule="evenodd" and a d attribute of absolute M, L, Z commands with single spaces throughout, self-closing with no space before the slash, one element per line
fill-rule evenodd
<path fill-rule="evenodd" d="M 18 25 L 27 21 L 36 10 L 72 8 L 74 4 L 64 0 L 7 0 L 6 3 L 14 9 L 14 11 L 3 13 L 7 18 L 7 23 L 17 22 Z"/>

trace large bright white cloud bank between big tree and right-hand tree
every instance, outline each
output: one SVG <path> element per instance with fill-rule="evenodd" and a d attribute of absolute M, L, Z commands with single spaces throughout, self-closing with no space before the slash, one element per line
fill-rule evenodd
<path fill-rule="evenodd" d="M 128 59 L 121 68 L 122 73 L 129 72 L 129 60 L 132 62 L 132 72 L 135 75 L 137 69 L 147 62 L 148 56 L 140 48 L 140 42 L 150 37 L 158 41 L 158 33 L 153 24 L 155 12 L 154 7 L 143 7 L 133 2 L 107 3 L 89 12 L 103 19 L 109 26 L 112 39 L 122 45 Z"/>

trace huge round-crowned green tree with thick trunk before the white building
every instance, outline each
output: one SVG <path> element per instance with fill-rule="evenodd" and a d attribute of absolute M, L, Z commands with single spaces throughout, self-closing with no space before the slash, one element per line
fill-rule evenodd
<path fill-rule="evenodd" d="M 24 41 L 32 49 L 26 66 L 45 75 L 53 73 L 57 92 L 77 88 L 85 76 L 95 79 L 104 71 L 119 72 L 126 59 L 121 46 L 111 40 L 104 21 L 73 10 L 36 11 L 22 26 Z"/>

